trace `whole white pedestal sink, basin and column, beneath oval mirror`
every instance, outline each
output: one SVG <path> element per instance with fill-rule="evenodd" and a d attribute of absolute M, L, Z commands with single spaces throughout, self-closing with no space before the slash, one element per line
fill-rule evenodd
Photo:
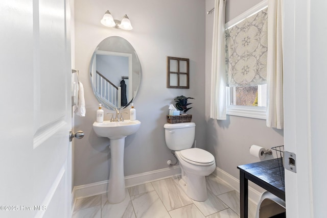
<path fill-rule="evenodd" d="M 95 122 L 93 129 L 99 137 L 110 139 L 111 163 L 108 186 L 108 201 L 117 204 L 125 199 L 125 179 L 124 179 L 124 146 L 125 138 L 135 133 L 141 122 L 138 120 L 125 120 L 121 122 L 103 123 Z"/>

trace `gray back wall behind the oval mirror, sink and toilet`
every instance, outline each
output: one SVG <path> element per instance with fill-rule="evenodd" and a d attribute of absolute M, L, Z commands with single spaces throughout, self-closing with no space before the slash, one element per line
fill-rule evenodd
<path fill-rule="evenodd" d="M 106 10 L 115 19 L 127 14 L 133 30 L 106 28 Z M 75 140 L 75 186 L 109 179 L 109 139 L 92 130 L 98 102 L 89 82 L 89 62 L 96 46 L 108 36 L 127 39 L 142 66 L 142 80 L 134 100 L 141 128 L 125 141 L 125 175 L 166 168 L 173 159 L 165 143 L 168 105 L 178 95 L 195 98 L 189 111 L 196 123 L 197 147 L 205 147 L 205 2 L 199 0 L 79 0 L 75 1 L 75 68 L 84 85 L 86 117 L 75 117 L 75 129 L 85 137 Z M 166 88 L 167 56 L 190 59 L 190 89 Z M 105 110 L 108 113 L 109 110 Z M 128 116 L 126 117 L 128 118 Z M 105 115 L 109 119 L 109 115 Z"/>

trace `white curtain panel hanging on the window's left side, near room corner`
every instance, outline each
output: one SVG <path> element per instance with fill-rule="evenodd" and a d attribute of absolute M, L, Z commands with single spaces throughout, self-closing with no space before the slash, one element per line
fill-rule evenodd
<path fill-rule="evenodd" d="M 226 119 L 225 1 L 215 0 L 210 117 Z"/>

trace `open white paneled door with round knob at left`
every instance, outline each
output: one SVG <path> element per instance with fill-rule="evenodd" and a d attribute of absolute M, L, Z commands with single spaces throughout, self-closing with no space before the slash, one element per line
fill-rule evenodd
<path fill-rule="evenodd" d="M 66 4 L 0 1 L 0 217 L 71 213 L 72 73 Z"/>

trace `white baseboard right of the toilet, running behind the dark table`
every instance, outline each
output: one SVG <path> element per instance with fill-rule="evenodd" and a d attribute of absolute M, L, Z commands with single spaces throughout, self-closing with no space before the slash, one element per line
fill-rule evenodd
<path fill-rule="evenodd" d="M 231 176 L 230 174 L 223 171 L 221 168 L 216 166 L 216 169 L 213 173 L 215 176 L 229 184 L 234 190 L 240 192 L 240 180 Z M 248 196 L 249 200 L 252 201 L 254 204 L 258 204 L 261 192 L 255 190 L 254 188 L 250 187 L 248 188 Z"/>

